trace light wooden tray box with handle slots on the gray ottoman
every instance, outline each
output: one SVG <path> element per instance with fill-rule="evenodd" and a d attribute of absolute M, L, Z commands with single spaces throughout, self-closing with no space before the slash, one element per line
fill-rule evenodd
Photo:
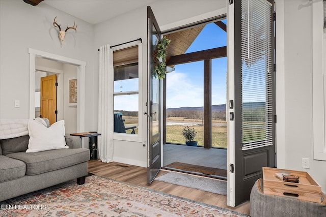
<path fill-rule="evenodd" d="M 264 194 L 321 203 L 321 187 L 309 173 L 270 167 L 263 167 L 262 169 Z M 299 183 L 285 182 L 276 176 L 277 173 L 299 176 Z"/>

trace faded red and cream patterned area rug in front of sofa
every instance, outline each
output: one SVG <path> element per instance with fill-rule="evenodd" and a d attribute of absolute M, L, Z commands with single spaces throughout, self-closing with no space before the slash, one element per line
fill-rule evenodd
<path fill-rule="evenodd" d="M 0 216 L 248 216 L 97 175 L 0 202 Z"/>

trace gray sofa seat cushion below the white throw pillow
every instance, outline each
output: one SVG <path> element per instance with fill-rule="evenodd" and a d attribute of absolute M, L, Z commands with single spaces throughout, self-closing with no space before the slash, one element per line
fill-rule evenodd
<path fill-rule="evenodd" d="M 25 162 L 26 175 L 36 175 L 86 162 L 90 159 L 90 150 L 64 148 L 32 153 L 17 152 L 8 154 L 8 157 Z"/>

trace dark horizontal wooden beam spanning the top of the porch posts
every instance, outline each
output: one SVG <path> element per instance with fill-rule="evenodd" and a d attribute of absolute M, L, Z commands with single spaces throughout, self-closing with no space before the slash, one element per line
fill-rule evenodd
<path fill-rule="evenodd" d="M 177 65 L 177 64 L 184 64 L 190 63 L 194 61 L 200 61 L 204 59 L 213 59 L 219 57 L 226 56 L 226 46 L 212 48 L 208 50 L 202 50 L 192 53 L 185 53 L 176 56 L 171 56 L 171 58 L 167 61 L 167 66 Z"/>

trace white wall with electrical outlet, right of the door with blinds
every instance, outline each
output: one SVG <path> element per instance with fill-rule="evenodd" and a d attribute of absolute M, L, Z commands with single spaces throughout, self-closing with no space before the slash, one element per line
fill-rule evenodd
<path fill-rule="evenodd" d="M 313 160 L 311 1 L 276 1 L 276 17 L 277 166 L 307 171 L 326 192 L 326 162 Z"/>

